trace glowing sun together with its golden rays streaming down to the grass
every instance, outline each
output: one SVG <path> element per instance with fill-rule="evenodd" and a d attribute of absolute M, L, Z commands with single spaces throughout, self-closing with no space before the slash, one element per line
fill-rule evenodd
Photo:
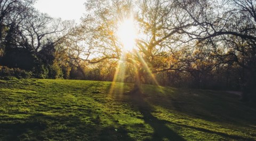
<path fill-rule="evenodd" d="M 118 94 L 118 96 L 122 96 L 124 93 L 124 78 L 125 78 L 125 59 L 127 52 L 130 52 L 133 50 L 139 60 L 142 64 L 142 67 L 146 70 L 146 72 L 149 74 L 150 78 L 153 80 L 154 84 L 159 86 L 159 83 L 157 82 L 155 75 L 151 72 L 150 68 L 148 67 L 146 61 L 142 58 L 142 56 L 139 54 L 137 50 L 135 50 L 135 39 L 137 37 L 137 32 L 135 28 L 135 24 L 133 19 L 130 17 L 128 19 L 123 20 L 118 27 L 117 30 L 117 36 L 119 38 L 119 41 L 121 41 L 123 52 L 121 59 L 118 61 L 118 66 L 116 68 L 116 73 L 114 76 L 114 80 L 110 87 L 110 94 Z M 131 55 L 133 56 L 133 55 Z M 134 57 L 134 56 L 133 56 Z M 133 60 L 133 63 L 137 63 L 134 58 L 131 58 Z M 135 65 L 135 64 L 134 64 Z M 138 71 L 135 69 L 135 72 Z M 135 73 L 137 79 L 140 79 L 138 73 Z M 121 82 L 121 83 L 117 83 Z"/>

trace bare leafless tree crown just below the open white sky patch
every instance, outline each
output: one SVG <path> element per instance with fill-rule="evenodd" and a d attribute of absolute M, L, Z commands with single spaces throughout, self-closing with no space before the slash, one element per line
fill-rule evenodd
<path fill-rule="evenodd" d="M 30 15 L 19 25 L 22 43 L 20 46 L 38 52 L 47 42 L 57 43 L 73 27 L 71 21 L 54 19 L 33 8 Z"/>

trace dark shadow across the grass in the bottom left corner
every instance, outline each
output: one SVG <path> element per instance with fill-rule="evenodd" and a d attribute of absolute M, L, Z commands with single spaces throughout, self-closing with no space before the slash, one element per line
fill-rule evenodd
<path fill-rule="evenodd" d="M 0 123 L 0 140 L 133 140 L 120 126 L 102 126 L 100 119 L 34 114 L 17 123 Z"/>

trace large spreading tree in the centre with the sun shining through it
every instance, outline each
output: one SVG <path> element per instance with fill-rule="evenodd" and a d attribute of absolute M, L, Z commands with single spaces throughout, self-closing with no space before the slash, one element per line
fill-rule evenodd
<path fill-rule="evenodd" d="M 98 59 L 86 61 L 97 63 L 123 57 L 137 70 L 134 92 L 140 90 L 140 81 L 142 77 L 145 80 L 146 74 L 178 69 L 173 68 L 171 62 L 159 67 L 159 61 L 178 50 L 179 43 L 176 41 L 180 38 L 180 29 L 189 29 L 195 21 L 180 13 L 173 1 L 88 1 L 85 5 L 88 14 L 81 29 L 87 39 L 93 41 L 94 52 L 100 55 Z M 129 18 L 138 25 L 138 37 L 135 49 L 122 56 L 124 45 L 116 33 L 120 24 Z"/>

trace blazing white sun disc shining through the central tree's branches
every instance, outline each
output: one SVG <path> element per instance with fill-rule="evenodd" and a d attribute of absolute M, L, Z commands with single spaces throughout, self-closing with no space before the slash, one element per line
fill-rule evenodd
<path fill-rule="evenodd" d="M 133 19 L 125 19 L 118 26 L 117 36 L 122 43 L 124 51 L 131 51 L 135 47 L 137 31 Z"/>

